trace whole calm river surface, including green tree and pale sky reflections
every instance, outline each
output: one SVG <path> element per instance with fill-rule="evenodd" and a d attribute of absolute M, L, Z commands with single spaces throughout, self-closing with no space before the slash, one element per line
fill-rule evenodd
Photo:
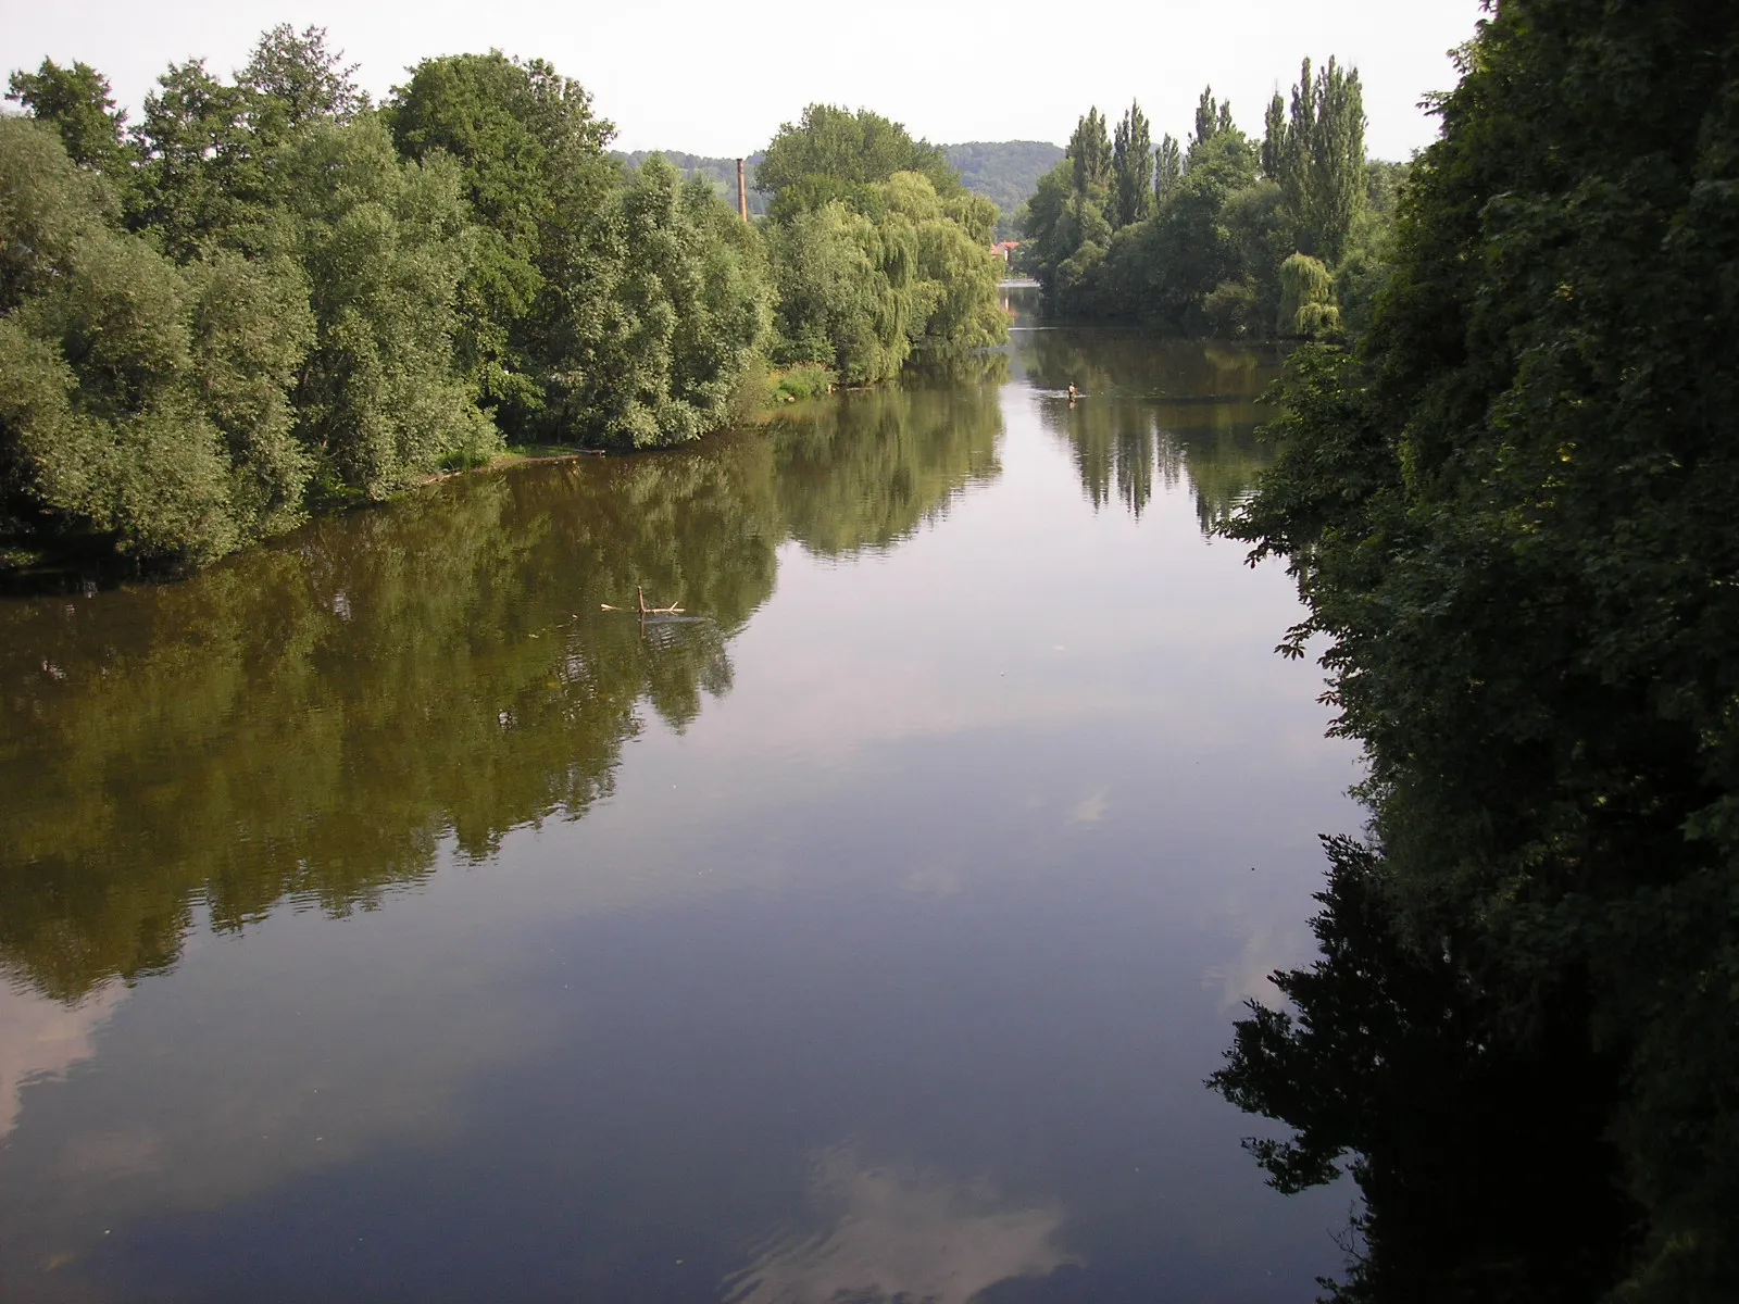
<path fill-rule="evenodd" d="M 993 363 L 0 603 L 0 1299 L 1309 1299 L 1273 356 Z"/>

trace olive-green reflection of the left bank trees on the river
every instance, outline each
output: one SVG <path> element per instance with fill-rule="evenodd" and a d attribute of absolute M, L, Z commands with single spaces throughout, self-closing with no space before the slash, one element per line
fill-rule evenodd
<path fill-rule="evenodd" d="M 995 379 L 995 377 L 989 377 Z M 0 605 L 0 974 L 75 1003 L 299 899 L 369 909 L 682 730 L 786 539 L 885 548 L 996 475 L 993 384 L 466 476 L 181 584 Z M 706 621 L 643 631 L 636 588 Z"/>

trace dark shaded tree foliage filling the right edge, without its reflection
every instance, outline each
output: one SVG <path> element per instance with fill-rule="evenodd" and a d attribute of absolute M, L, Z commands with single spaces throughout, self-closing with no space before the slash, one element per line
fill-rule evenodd
<path fill-rule="evenodd" d="M 1501 5 L 1238 523 L 1365 746 L 1400 942 L 1492 1040 L 1617 1064 L 1624 1301 L 1739 1280 L 1736 57 L 1727 7 Z"/>

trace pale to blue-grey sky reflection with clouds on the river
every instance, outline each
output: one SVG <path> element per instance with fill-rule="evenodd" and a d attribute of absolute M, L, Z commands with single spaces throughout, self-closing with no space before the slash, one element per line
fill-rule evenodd
<path fill-rule="evenodd" d="M 1200 1081 L 1309 951 L 1351 753 L 1285 575 L 1188 487 L 1092 513 L 1003 395 L 1000 478 L 786 546 L 584 821 L 19 1059 L 0 1297 L 1308 1294 L 1344 1200 L 1266 1193 Z"/>

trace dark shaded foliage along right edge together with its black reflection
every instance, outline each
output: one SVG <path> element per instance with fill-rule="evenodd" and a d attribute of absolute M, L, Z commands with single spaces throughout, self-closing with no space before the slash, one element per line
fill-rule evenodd
<path fill-rule="evenodd" d="M 1336 1299 L 1732 1301 L 1739 10 L 1504 0 L 1461 68 L 1233 529 L 1372 838 L 1216 1083 L 1360 1182 Z"/>

